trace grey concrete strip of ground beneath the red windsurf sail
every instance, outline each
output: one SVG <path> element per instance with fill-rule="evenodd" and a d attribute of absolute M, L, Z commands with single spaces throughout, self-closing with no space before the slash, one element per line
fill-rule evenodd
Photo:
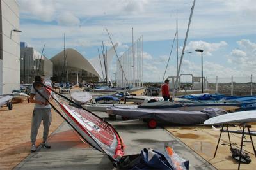
<path fill-rule="evenodd" d="M 108 120 L 106 113 L 97 113 Z M 184 145 L 179 139 L 165 129 L 158 127 L 148 129 L 139 120 L 109 121 L 116 128 L 125 144 L 125 155 L 140 153 L 143 148 L 163 149 L 164 145 L 184 159 L 189 160 L 189 169 L 215 169 L 211 164 Z M 108 157 L 81 141 L 76 132 L 63 123 L 49 138 L 51 149 L 38 146 L 15 169 L 115 169 Z"/>

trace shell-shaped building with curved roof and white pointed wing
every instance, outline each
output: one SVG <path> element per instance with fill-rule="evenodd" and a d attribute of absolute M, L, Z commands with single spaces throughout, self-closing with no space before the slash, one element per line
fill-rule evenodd
<path fill-rule="evenodd" d="M 116 43 L 115 48 L 117 46 L 118 44 Z M 107 60 L 104 64 L 102 55 L 100 55 L 100 57 L 97 56 L 87 60 L 85 57 L 83 57 L 83 55 L 81 55 L 81 53 L 77 52 L 77 50 L 68 48 L 65 51 L 67 56 L 67 69 L 64 61 L 64 50 L 50 59 L 53 64 L 54 81 L 70 81 L 71 83 L 80 83 L 82 81 L 88 82 L 104 80 L 104 78 L 106 78 L 106 73 L 108 75 L 108 67 L 113 60 L 113 56 L 115 55 L 115 50 L 110 48 L 105 53 L 105 55 L 107 55 Z M 108 81 L 111 81 L 109 75 Z"/>

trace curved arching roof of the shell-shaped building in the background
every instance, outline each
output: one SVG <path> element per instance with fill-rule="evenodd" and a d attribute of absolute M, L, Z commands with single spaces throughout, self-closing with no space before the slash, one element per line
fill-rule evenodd
<path fill-rule="evenodd" d="M 101 78 L 100 74 L 95 69 L 95 67 L 93 67 L 92 64 L 87 59 L 85 59 L 83 57 L 83 55 L 81 55 L 81 53 L 77 52 L 77 50 L 68 48 L 68 49 L 66 49 L 66 53 L 67 53 L 68 67 L 83 69 L 83 70 L 88 71 L 89 73 L 92 73 L 95 76 L 98 76 Z M 62 52 L 56 54 L 50 60 L 52 61 L 52 63 L 55 66 L 64 66 L 64 50 Z"/>

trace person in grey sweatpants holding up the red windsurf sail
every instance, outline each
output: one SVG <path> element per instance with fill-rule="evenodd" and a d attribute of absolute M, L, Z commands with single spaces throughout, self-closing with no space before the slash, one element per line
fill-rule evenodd
<path fill-rule="evenodd" d="M 50 99 L 50 94 L 40 83 L 44 83 L 44 79 L 40 76 L 35 76 L 34 85 L 36 89 L 33 85 L 29 97 L 30 102 L 35 103 L 31 123 L 31 152 L 36 152 L 36 136 L 42 120 L 44 125 L 42 146 L 44 146 L 45 148 L 51 148 L 49 143 L 47 143 L 49 127 L 52 121 L 51 105 L 42 96 L 40 96 L 40 94 L 42 94 L 45 98 Z M 40 94 L 38 94 L 37 91 L 40 92 Z"/>

